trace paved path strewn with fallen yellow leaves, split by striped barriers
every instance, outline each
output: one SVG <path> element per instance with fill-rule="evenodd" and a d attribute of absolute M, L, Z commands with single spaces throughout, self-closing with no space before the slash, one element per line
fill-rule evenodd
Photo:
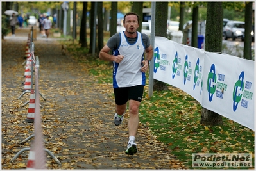
<path fill-rule="evenodd" d="M 18 151 L 30 147 L 30 141 L 24 145 L 19 142 L 33 134 L 33 124 L 22 123 L 28 107 L 21 105 L 30 95 L 17 99 L 24 88 L 21 64 L 29 32 L 18 29 L 16 37 L 8 35 L 2 40 L 2 169 L 26 168 L 28 160 L 28 152 L 24 152 L 10 163 Z M 56 164 L 47 155 L 48 169 L 185 168 L 142 124 L 136 139 L 139 152 L 127 156 L 127 119 L 114 126 L 112 85 L 99 85 L 81 63 L 62 55 L 55 38 L 46 41 L 37 31 L 34 44 L 40 59 L 40 93 L 47 99 L 40 99 L 42 129 L 48 142 L 45 147 L 62 163 Z"/>

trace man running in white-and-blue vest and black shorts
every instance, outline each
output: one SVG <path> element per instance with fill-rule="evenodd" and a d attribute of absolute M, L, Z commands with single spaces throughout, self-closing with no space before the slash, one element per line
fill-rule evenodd
<path fill-rule="evenodd" d="M 139 28 L 137 13 L 126 13 L 123 24 L 125 31 L 110 37 L 99 52 L 99 58 L 113 62 L 115 126 L 119 126 L 123 122 L 127 102 L 129 104 L 129 141 L 125 153 L 133 155 L 138 151 L 135 136 L 139 127 L 139 106 L 146 84 L 145 72 L 153 57 L 153 48 L 149 37 L 137 31 Z M 109 54 L 111 50 L 112 54 Z M 144 59 L 145 52 L 146 60 Z"/>

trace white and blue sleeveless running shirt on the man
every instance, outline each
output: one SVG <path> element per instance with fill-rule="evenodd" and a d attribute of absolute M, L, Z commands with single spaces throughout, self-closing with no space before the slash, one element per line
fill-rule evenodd
<path fill-rule="evenodd" d="M 117 49 L 113 51 L 113 55 L 119 54 L 124 56 L 120 63 L 113 61 L 113 87 L 131 87 L 136 85 L 145 85 L 146 76 L 141 72 L 142 60 L 144 58 L 144 45 L 142 43 L 142 35 L 137 32 L 137 40 L 130 44 L 121 33 L 121 43 Z"/>

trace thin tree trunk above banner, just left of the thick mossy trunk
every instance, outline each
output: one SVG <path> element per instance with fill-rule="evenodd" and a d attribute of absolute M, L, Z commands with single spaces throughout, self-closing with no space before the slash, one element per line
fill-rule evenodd
<path fill-rule="evenodd" d="M 191 46 L 198 47 L 198 6 L 193 7 Z"/>

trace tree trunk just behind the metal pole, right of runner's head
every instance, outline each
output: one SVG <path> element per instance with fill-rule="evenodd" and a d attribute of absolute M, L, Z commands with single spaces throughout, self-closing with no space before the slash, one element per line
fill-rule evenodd
<path fill-rule="evenodd" d="M 155 3 L 155 36 L 167 37 L 168 2 L 157 1 Z M 167 84 L 154 79 L 153 89 L 157 91 L 167 90 Z"/>

